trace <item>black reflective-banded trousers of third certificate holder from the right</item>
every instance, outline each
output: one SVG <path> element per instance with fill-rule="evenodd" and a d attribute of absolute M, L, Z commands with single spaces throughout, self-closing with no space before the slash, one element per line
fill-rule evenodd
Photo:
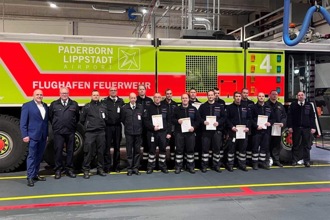
<path fill-rule="evenodd" d="M 235 142 L 233 142 L 233 139 L 235 138 L 235 134 L 232 132 L 229 132 L 229 138 L 228 138 L 228 157 L 227 157 L 227 167 L 233 167 L 235 158 L 237 157 L 237 163 L 239 167 L 244 167 L 246 162 L 246 146 L 247 146 L 247 136 L 248 134 L 245 134 L 245 139 L 236 139 Z M 236 153 L 236 157 L 235 156 Z M 235 162 L 236 163 L 236 162 Z"/>

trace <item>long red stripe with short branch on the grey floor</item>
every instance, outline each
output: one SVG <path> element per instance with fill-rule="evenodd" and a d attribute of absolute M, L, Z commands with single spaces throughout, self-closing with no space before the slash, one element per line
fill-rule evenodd
<path fill-rule="evenodd" d="M 145 198 L 113 199 L 113 200 L 92 200 L 92 201 L 27 204 L 27 205 L 11 205 L 11 206 L 1 206 L 0 210 L 21 209 L 21 208 L 40 208 L 40 207 L 51 207 L 51 206 L 66 206 L 66 205 L 128 203 L 128 202 L 141 202 L 141 201 L 197 199 L 197 198 L 230 197 L 230 196 L 251 196 L 251 195 L 264 195 L 264 194 L 330 192 L 330 188 L 327 188 L 327 189 L 303 189 L 303 190 L 278 190 L 278 191 L 261 191 L 261 192 L 252 191 L 248 187 L 241 187 L 241 189 L 246 191 L 246 192 L 201 194 L 201 195 L 183 195 L 183 196 L 145 197 Z"/>

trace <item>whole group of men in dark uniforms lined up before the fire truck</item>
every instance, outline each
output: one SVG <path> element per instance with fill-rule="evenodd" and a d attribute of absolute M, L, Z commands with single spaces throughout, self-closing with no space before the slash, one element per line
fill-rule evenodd
<path fill-rule="evenodd" d="M 38 99 L 34 102 L 42 108 L 42 91 L 36 90 Z M 41 99 L 40 99 L 41 93 Z M 304 162 L 310 167 L 310 135 L 315 132 L 315 115 L 311 103 L 305 101 L 303 92 L 298 92 L 298 102 L 293 102 L 286 116 L 283 105 L 277 101 L 278 92 L 272 90 L 269 99 L 265 101 L 265 94 L 259 93 L 257 103 L 248 99 L 248 89 L 233 94 L 234 102 L 228 106 L 219 98 L 219 89 L 207 92 L 208 101 L 201 103 L 196 98 L 196 90 L 191 88 L 189 94 L 182 94 L 182 104 L 172 100 L 172 90 L 166 89 L 165 99 L 156 92 L 153 99 L 146 96 L 146 87 L 138 86 L 138 96 L 134 92 L 129 95 L 129 103 L 117 96 L 117 88 L 111 87 L 109 96 L 100 101 L 99 91 L 91 92 L 91 101 L 79 112 L 77 102 L 69 98 L 66 87 L 60 89 L 60 98 L 53 101 L 49 107 L 49 120 L 52 124 L 55 149 L 55 179 L 61 178 L 64 169 L 69 177 L 76 177 L 73 173 L 73 151 L 75 145 L 75 130 L 80 121 L 85 129 L 84 160 L 82 164 L 83 178 L 89 178 L 90 163 L 94 147 L 97 148 L 97 174 L 106 176 L 111 168 L 120 172 L 120 141 L 122 126 L 126 137 L 127 175 L 133 173 L 141 175 L 140 147 L 143 142 L 143 169 L 150 174 L 156 165 L 156 146 L 158 146 L 158 164 L 163 173 L 168 173 L 167 167 L 175 168 L 180 173 L 187 168 L 189 173 L 195 173 L 195 167 L 201 172 L 207 172 L 211 167 L 218 173 L 220 167 L 225 166 L 230 172 L 237 166 L 242 171 L 248 171 L 247 165 L 253 170 L 263 168 L 269 170 L 270 157 L 273 165 L 282 167 L 279 152 L 281 136 L 271 135 L 271 126 L 279 123 L 280 127 L 289 128 L 292 133 L 292 166 L 297 165 L 299 158 L 299 138 L 302 136 Z M 32 101 L 31 101 L 32 102 Z M 34 103 L 33 103 L 34 104 Z M 43 104 L 43 105 L 42 105 Z M 23 105 L 24 107 L 24 105 Z M 44 107 L 45 108 L 45 107 Z M 42 111 L 40 109 L 40 111 Z M 25 112 L 22 108 L 22 114 Z M 41 116 L 41 115 L 40 115 Z M 264 124 L 258 124 L 260 116 L 267 116 Z M 24 118 L 24 117 L 21 117 Z M 25 117 L 26 118 L 26 117 Z M 45 119 L 45 118 L 43 118 Z M 190 119 L 190 127 L 183 131 L 184 120 Z M 160 123 L 162 121 L 162 123 Z M 157 123 L 158 122 L 158 123 Z M 28 122 L 27 122 L 28 123 Z M 157 124 L 155 124 L 157 123 Z M 245 138 L 236 135 L 239 128 L 243 128 Z M 24 129 L 28 130 L 28 126 Z M 22 130 L 22 127 L 21 127 Z M 29 142 L 30 148 L 44 148 L 32 146 L 27 141 L 26 132 L 23 141 Z M 25 130 L 24 130 L 25 131 Z M 241 133 L 242 134 L 242 133 Z M 48 132 L 47 132 L 48 136 Z M 222 141 L 228 141 L 227 154 L 224 155 Z M 170 145 L 170 164 L 166 164 L 166 147 Z M 66 147 L 66 163 L 63 167 L 62 152 Z M 113 162 L 110 146 L 113 145 Z M 37 150 L 35 151 L 37 152 Z M 36 154 L 31 151 L 31 154 Z M 43 150 L 42 150 L 43 152 Z M 38 155 L 30 155 L 28 167 L 37 166 L 40 161 L 29 160 Z M 226 159 L 224 157 L 227 157 Z M 225 160 L 224 160 L 225 159 Z M 225 161 L 226 164 L 222 165 Z M 31 165 L 32 163 L 32 165 Z M 113 164 L 113 165 L 112 165 Z M 38 172 L 29 173 L 28 185 L 33 186 L 33 180 L 45 180 Z M 29 178 L 30 177 L 30 178 Z"/>

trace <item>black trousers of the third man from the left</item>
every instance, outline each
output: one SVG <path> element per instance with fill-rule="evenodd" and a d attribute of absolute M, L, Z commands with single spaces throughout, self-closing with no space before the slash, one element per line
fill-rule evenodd
<path fill-rule="evenodd" d="M 90 170 L 90 162 L 92 160 L 92 155 L 94 152 L 94 146 L 96 143 L 97 148 L 97 171 L 103 170 L 104 168 L 104 148 L 105 148 L 105 132 L 98 131 L 96 133 L 86 132 L 85 140 L 83 145 L 83 164 L 82 164 L 82 172 L 89 172 Z"/>

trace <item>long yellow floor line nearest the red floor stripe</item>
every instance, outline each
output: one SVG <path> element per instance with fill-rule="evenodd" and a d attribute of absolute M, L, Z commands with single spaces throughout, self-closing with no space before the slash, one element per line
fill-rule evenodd
<path fill-rule="evenodd" d="M 163 192 L 163 191 L 177 191 L 177 190 L 223 189 L 223 188 L 239 188 L 239 187 L 287 186 L 287 185 L 310 185 L 310 184 L 330 184 L 330 181 L 322 181 L 322 182 L 294 182 L 294 183 L 264 183 L 264 184 L 225 185 L 225 186 L 197 186 L 197 187 L 182 187 L 182 188 L 161 188 L 161 189 L 141 189 L 141 190 L 126 190 L 126 191 L 110 191 L 110 192 L 50 194 L 50 195 L 39 195 L 39 196 L 7 197 L 7 198 L 0 198 L 0 201 L 22 200 L 22 199 L 40 199 L 40 198 L 51 198 L 51 197 L 68 197 L 68 196 L 90 196 L 90 195 L 124 194 L 124 193 Z"/>

